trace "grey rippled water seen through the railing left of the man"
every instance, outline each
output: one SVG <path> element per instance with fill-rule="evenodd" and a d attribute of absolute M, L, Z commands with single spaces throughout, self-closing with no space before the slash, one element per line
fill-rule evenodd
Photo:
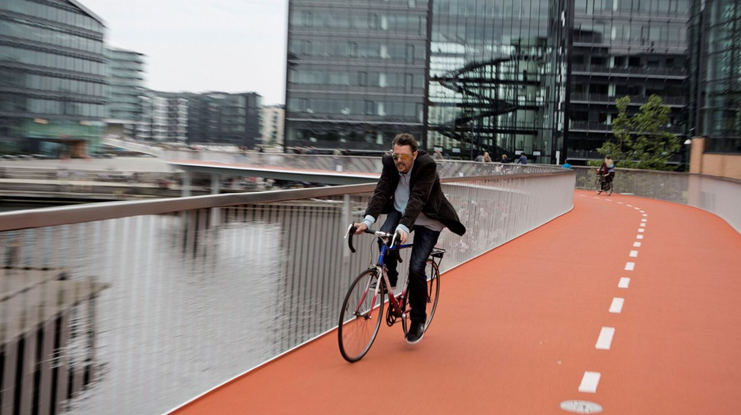
<path fill-rule="evenodd" d="M 94 232 L 105 236 L 82 245 L 77 234 L 92 229 L 61 232 L 79 248 L 64 251 L 76 276 L 110 283 L 96 309 L 100 370 L 68 412 L 166 411 L 336 323 L 349 258 L 328 252 L 342 252 L 341 206 L 222 208 L 219 226 L 211 217 L 107 220 Z"/>

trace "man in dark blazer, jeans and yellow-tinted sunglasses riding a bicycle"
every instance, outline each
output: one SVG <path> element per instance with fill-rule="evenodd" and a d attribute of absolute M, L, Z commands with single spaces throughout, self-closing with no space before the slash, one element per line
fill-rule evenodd
<path fill-rule="evenodd" d="M 453 205 L 445 198 L 437 175 L 437 163 L 424 150 L 417 150 L 413 135 L 402 133 L 393 138 L 391 155 L 384 155 L 381 178 L 376 184 L 365 218 L 355 223 L 356 235 L 373 226 L 378 215 L 388 214 L 382 232 L 395 232 L 398 243 L 406 243 L 415 232 L 409 260 L 409 305 L 411 327 L 407 343 L 422 340 L 425 334 L 427 276 L 425 263 L 437 243 L 440 232 L 447 227 L 456 235 L 465 233 Z M 396 286 L 397 251 L 385 256 L 384 263 L 391 286 Z"/>

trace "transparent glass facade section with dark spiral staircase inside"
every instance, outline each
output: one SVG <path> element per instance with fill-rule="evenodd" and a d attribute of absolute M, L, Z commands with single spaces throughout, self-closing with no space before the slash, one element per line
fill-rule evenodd
<path fill-rule="evenodd" d="M 429 149 L 554 160 L 565 98 L 561 10 L 553 0 L 434 1 Z"/>

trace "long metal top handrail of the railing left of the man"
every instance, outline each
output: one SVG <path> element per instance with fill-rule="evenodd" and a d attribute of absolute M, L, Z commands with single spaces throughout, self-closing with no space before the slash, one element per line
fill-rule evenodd
<path fill-rule="evenodd" d="M 567 174 L 569 171 L 518 173 L 511 175 L 468 176 L 443 178 L 441 183 L 474 180 L 505 180 L 513 178 L 535 178 Z M 572 174 L 574 172 L 571 172 Z M 85 203 L 74 206 L 54 206 L 0 213 L 0 232 L 18 229 L 41 228 L 44 226 L 68 225 L 70 223 L 93 222 L 139 215 L 162 215 L 194 209 L 208 209 L 250 203 L 273 203 L 285 200 L 320 198 L 327 196 L 352 195 L 372 192 L 376 183 L 326 186 L 310 189 L 271 190 L 266 192 L 228 193 L 224 195 L 202 195 L 187 198 L 165 198 L 157 200 L 122 200 L 103 203 Z"/>

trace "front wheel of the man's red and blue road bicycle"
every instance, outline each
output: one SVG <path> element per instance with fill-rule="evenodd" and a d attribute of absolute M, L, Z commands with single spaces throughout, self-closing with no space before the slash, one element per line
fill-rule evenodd
<path fill-rule="evenodd" d="M 384 303 L 383 287 L 374 297 L 377 284 L 381 280 L 376 269 L 366 269 L 350 285 L 342 302 L 337 340 L 339 352 L 348 362 L 361 360 L 376 340 Z"/>

